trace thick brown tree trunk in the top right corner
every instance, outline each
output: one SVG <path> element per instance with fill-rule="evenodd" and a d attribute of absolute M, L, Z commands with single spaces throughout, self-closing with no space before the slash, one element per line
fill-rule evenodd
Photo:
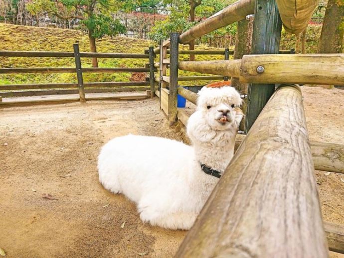
<path fill-rule="evenodd" d="M 344 1 L 329 0 L 320 36 L 319 53 L 342 53 Z"/>

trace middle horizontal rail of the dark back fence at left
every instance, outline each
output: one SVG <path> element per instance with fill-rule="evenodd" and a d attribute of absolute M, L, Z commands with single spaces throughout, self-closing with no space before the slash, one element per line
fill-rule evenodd
<path fill-rule="evenodd" d="M 149 72 L 149 68 L 82 68 L 83 73 L 130 73 L 130 72 Z M 155 69 L 157 71 L 157 69 Z M 76 68 L 0 68 L 1 73 L 75 73 Z"/>

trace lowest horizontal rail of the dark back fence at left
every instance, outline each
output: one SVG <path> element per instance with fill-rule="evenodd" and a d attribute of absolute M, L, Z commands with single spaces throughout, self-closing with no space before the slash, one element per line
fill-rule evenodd
<path fill-rule="evenodd" d="M 84 83 L 85 87 L 131 87 L 149 86 L 150 82 L 89 82 Z M 11 90 L 32 90 L 32 89 L 58 89 L 58 88 L 77 88 L 77 83 L 41 83 L 41 84 L 11 84 L 0 85 L 0 91 Z"/>

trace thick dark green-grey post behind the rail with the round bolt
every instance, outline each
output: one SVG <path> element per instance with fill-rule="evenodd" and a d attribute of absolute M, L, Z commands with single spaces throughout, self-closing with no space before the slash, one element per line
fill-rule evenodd
<path fill-rule="evenodd" d="M 275 0 L 256 0 L 253 21 L 252 54 L 278 54 L 282 21 Z M 258 71 L 259 70 L 259 71 Z M 257 67 L 258 73 L 264 67 Z M 275 91 L 275 84 L 249 84 L 245 133 Z"/>

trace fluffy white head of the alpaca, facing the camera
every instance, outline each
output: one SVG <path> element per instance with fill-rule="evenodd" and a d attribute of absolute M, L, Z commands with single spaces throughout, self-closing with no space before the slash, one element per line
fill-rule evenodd
<path fill-rule="evenodd" d="M 197 111 L 213 130 L 228 130 L 235 123 L 235 107 L 242 103 L 239 93 L 229 86 L 203 87 L 199 92 Z"/>

